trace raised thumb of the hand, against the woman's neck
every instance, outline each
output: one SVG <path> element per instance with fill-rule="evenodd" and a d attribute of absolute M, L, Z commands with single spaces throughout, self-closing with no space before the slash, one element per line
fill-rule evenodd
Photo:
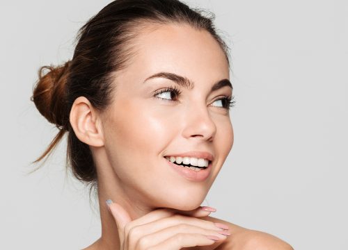
<path fill-rule="evenodd" d="M 113 219 L 115 219 L 118 228 L 118 235 L 122 244 L 125 239 L 125 225 L 129 222 L 132 222 L 132 219 L 125 208 L 122 208 L 120 204 L 111 201 L 111 199 L 108 199 L 106 201 L 106 204 L 109 206 L 109 210 L 111 212 L 111 215 L 113 216 Z"/>

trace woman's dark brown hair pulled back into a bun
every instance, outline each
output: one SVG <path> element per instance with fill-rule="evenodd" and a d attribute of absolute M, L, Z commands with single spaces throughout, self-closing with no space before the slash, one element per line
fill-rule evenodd
<path fill-rule="evenodd" d="M 228 47 L 214 28 L 214 15 L 203 14 L 177 0 L 116 0 L 92 17 L 79 30 L 72 60 L 39 70 L 31 101 L 59 132 L 33 163 L 48 156 L 68 132 L 67 164 L 80 181 L 95 184 L 97 172 L 90 148 L 77 138 L 70 124 L 72 103 L 83 96 L 97 110 L 107 108 L 115 88 L 111 74 L 127 66 L 132 57 L 130 42 L 141 25 L 171 22 L 208 31 L 221 45 L 229 63 Z"/>

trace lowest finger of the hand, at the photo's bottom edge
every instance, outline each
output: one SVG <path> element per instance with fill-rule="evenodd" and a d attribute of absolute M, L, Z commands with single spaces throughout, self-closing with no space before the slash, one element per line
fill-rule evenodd
<path fill-rule="evenodd" d="M 182 249 L 184 247 L 196 247 L 196 246 L 207 246 L 212 245 L 216 241 L 210 240 L 205 235 L 200 235 L 197 233 L 179 233 L 177 235 L 173 235 L 173 237 L 169 238 L 168 240 L 165 240 L 164 242 L 161 242 L 155 247 L 150 247 L 150 250 L 162 250 L 162 249 L 168 249 L 168 250 L 177 250 Z"/>

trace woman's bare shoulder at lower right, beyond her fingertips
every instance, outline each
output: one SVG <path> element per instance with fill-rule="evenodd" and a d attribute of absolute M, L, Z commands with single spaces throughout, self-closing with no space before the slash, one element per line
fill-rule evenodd
<path fill-rule="evenodd" d="M 215 217 L 208 216 L 204 219 L 223 223 L 230 227 L 231 236 L 216 250 L 294 250 L 290 244 L 269 233 L 243 228 Z"/>

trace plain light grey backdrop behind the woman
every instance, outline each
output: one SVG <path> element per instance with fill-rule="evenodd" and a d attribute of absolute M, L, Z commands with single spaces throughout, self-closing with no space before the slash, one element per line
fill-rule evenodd
<path fill-rule="evenodd" d="M 0 2 L 0 249 L 81 249 L 97 203 L 65 172 L 65 141 L 29 100 L 38 68 L 72 58 L 78 29 L 110 1 Z M 231 48 L 235 144 L 203 205 L 294 249 L 348 249 L 348 2 L 186 1 Z"/>

